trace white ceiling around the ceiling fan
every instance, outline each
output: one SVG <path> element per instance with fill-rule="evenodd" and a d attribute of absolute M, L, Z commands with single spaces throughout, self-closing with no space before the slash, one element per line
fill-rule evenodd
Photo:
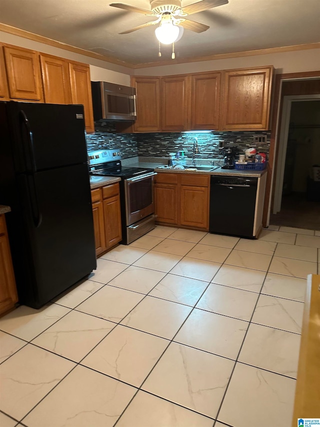
<path fill-rule="evenodd" d="M 130 64 L 159 61 L 153 26 L 118 34 L 153 20 L 109 6 L 120 2 L 150 10 L 148 0 L 0 0 L 0 22 Z M 178 60 L 320 41 L 320 0 L 229 0 L 189 19 L 210 28 L 184 30 Z M 170 54 L 163 46 L 160 61 Z"/>

